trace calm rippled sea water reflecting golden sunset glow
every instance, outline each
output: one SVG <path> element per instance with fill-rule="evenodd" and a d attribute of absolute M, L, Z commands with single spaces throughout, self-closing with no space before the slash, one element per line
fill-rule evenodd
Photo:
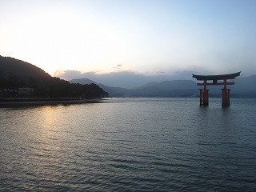
<path fill-rule="evenodd" d="M 0 108 L 0 191 L 256 191 L 256 99 Z"/>

